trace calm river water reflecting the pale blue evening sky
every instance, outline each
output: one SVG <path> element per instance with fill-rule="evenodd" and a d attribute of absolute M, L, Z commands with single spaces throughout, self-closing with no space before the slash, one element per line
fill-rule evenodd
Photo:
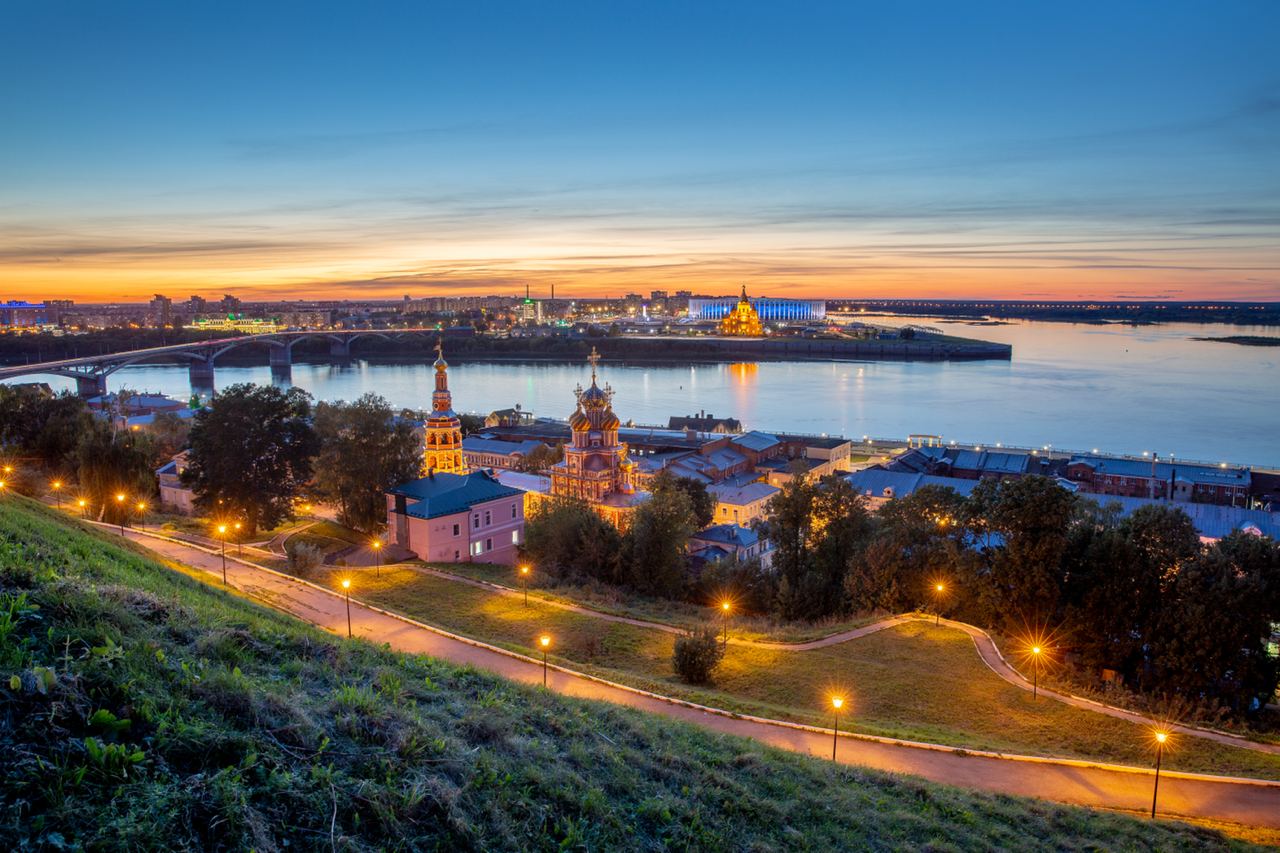
<path fill-rule="evenodd" d="M 900 324 L 905 319 L 877 318 Z M 1043 446 L 1280 465 L 1280 348 L 1193 341 L 1280 329 L 928 320 L 951 334 L 1010 343 L 1012 361 L 783 362 L 627 366 L 602 364 L 623 421 L 666 424 L 699 410 L 748 428 L 851 437 L 941 434 L 960 443 Z M 456 364 L 454 406 L 488 412 L 521 403 L 566 418 L 586 364 Z M 269 368 L 218 368 L 216 382 L 271 382 Z M 372 391 L 397 407 L 430 406 L 431 369 L 420 364 L 296 364 L 292 382 L 320 400 Z M 51 380 L 56 387 L 69 382 Z M 189 394 L 183 366 L 134 366 L 123 386 Z"/>

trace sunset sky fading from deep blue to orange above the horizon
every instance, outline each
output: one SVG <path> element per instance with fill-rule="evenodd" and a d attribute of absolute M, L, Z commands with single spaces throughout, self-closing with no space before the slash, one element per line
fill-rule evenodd
<path fill-rule="evenodd" d="M 0 300 L 1280 300 L 1280 4 L 0 10 Z"/>

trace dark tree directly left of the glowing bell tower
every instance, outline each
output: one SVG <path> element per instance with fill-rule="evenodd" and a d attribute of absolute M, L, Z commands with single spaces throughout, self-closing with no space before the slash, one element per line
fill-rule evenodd
<path fill-rule="evenodd" d="M 366 533 L 387 523 L 387 491 L 419 475 L 422 446 L 389 402 L 367 393 L 355 402 L 321 402 L 315 414 L 320 452 L 315 496 L 338 507 L 338 520 Z"/>

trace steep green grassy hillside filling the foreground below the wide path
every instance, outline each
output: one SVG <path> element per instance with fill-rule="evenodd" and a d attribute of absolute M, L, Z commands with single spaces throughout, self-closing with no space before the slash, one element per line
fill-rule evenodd
<path fill-rule="evenodd" d="M 1208 849 L 332 638 L 0 501 L 9 849 Z"/>

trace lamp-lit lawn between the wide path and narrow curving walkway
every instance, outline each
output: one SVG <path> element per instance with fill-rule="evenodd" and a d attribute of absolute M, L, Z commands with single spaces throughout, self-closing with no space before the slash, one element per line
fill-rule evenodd
<path fill-rule="evenodd" d="M 716 684 L 695 688 L 671 667 L 675 634 L 607 621 L 506 596 L 410 567 L 333 570 L 353 578 L 352 596 L 430 625 L 616 681 L 741 713 L 831 725 L 829 697 L 845 699 L 841 727 L 960 748 L 1148 765 L 1140 725 L 1032 699 L 986 667 L 968 635 L 911 622 L 808 652 L 730 644 Z M 321 579 L 321 583 L 325 583 Z M 1280 757 L 1180 736 L 1169 768 L 1280 779 Z"/>

